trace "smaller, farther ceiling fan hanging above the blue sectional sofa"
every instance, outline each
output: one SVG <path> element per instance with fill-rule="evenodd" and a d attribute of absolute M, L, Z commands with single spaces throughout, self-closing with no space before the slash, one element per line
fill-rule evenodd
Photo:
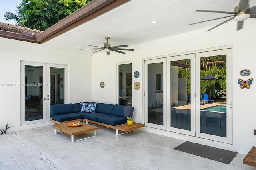
<path fill-rule="evenodd" d="M 107 40 L 107 42 L 103 43 L 104 47 L 99 47 L 99 46 L 95 46 L 95 45 L 88 45 L 88 46 L 99 47 L 99 48 L 92 48 L 92 49 L 100 49 L 98 51 L 104 50 L 104 51 L 107 52 L 107 55 L 110 54 L 110 51 L 115 51 L 115 52 L 122 53 L 122 54 L 126 54 L 126 53 L 124 53 L 123 51 L 119 51 L 119 50 L 134 51 L 134 49 L 122 49 L 122 48 L 120 48 L 120 47 L 128 47 L 128 45 L 117 45 L 117 46 L 111 47 L 110 44 L 108 43 L 108 39 L 110 39 L 110 37 L 105 37 L 105 39 Z M 86 44 L 84 44 L 84 45 L 86 45 Z M 88 49 L 80 49 L 80 50 L 88 50 Z M 98 51 L 94 51 L 92 53 L 96 53 Z"/>

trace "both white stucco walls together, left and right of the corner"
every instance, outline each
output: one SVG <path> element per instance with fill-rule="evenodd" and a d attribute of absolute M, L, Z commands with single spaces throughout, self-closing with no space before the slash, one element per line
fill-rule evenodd
<path fill-rule="evenodd" d="M 20 82 L 20 61 L 67 64 L 69 66 L 69 102 L 105 102 L 118 103 L 116 63 L 132 63 L 132 73 L 139 71 L 138 78 L 132 77 L 132 83 L 140 82 L 140 89 L 132 89 L 134 121 L 144 123 L 144 59 L 159 56 L 173 56 L 198 51 L 207 51 L 215 47 L 232 45 L 232 82 L 233 82 L 233 144 L 220 143 L 188 135 L 162 131 L 145 127 L 144 131 L 158 133 L 178 139 L 207 144 L 222 149 L 234 150 L 246 154 L 256 145 L 256 82 L 251 88 L 241 90 L 237 83 L 240 71 L 251 71 L 250 78 L 256 78 L 256 21 L 249 18 L 244 29 L 236 31 L 236 22 L 205 32 L 198 30 L 173 37 L 166 37 L 147 43 L 130 46 L 135 51 L 125 55 L 110 52 L 82 56 L 82 53 L 55 50 L 42 45 L 0 38 L 0 83 Z M 129 44 L 128 44 L 129 45 Z M 246 77 L 247 78 L 247 77 Z M 100 82 L 105 83 L 100 88 Z M 256 81 L 256 80 L 254 80 Z M 0 128 L 14 126 L 8 132 L 50 125 L 50 122 L 20 126 L 20 87 L 0 87 Z"/>

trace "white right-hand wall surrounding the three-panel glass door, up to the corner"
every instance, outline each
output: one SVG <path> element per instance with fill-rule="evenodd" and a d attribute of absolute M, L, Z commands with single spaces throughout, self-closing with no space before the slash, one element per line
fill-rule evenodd
<path fill-rule="evenodd" d="M 98 53 L 92 56 L 92 101 L 118 103 L 116 101 L 116 63 L 132 61 L 132 72 L 139 71 L 138 78 L 132 78 L 132 83 L 140 82 L 141 88 L 132 91 L 132 105 L 134 106 L 134 121 L 144 123 L 144 59 L 167 57 L 175 54 L 188 54 L 193 52 L 208 51 L 215 47 L 232 46 L 232 82 L 233 82 L 233 144 L 220 143 L 207 139 L 196 138 L 178 133 L 162 131 L 149 127 L 144 131 L 158 133 L 178 139 L 197 142 L 222 149 L 234 150 L 246 154 L 256 143 L 256 85 L 241 90 L 237 79 L 247 78 L 240 76 L 240 71 L 251 71 L 250 78 L 256 78 L 256 21 L 244 21 L 244 29 L 236 31 L 236 22 L 224 25 L 205 32 L 193 31 L 173 37 L 166 37 L 138 45 L 129 46 L 135 51 L 125 55 L 110 52 L 111 55 Z M 249 77 L 248 77 L 249 78 Z M 105 88 L 100 88 L 100 82 L 105 82 Z M 255 81 L 255 80 L 254 80 Z"/>

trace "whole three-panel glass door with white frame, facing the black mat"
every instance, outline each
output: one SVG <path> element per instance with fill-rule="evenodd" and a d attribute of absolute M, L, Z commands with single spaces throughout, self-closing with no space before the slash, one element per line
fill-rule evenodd
<path fill-rule="evenodd" d="M 145 61 L 145 125 L 232 143 L 231 49 Z"/>

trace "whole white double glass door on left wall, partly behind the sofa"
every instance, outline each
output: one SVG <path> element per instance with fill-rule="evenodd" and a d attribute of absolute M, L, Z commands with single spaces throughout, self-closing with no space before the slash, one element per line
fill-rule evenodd
<path fill-rule="evenodd" d="M 21 62 L 21 125 L 50 121 L 50 105 L 68 102 L 68 66 Z"/>

